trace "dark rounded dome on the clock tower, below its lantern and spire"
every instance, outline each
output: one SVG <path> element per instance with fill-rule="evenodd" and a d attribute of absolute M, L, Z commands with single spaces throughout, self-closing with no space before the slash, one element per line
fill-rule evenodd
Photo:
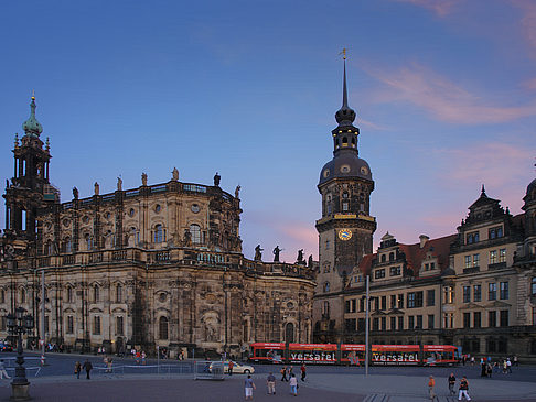
<path fill-rule="evenodd" d="M 319 185 L 333 178 L 366 178 L 372 181 L 371 166 L 365 160 L 357 156 L 356 152 L 341 152 L 322 167 Z"/>

